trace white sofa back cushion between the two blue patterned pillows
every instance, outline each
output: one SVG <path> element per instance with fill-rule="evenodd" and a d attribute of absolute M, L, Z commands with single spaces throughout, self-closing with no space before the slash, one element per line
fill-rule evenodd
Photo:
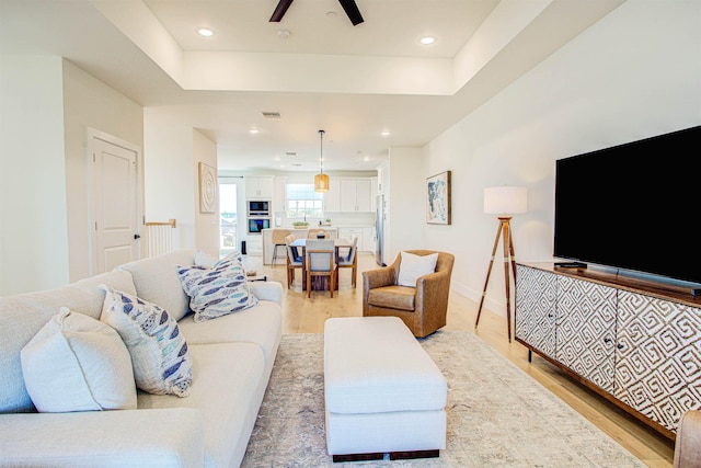
<path fill-rule="evenodd" d="M 192 265 L 194 249 L 182 249 L 117 266 L 131 273 L 136 295 L 180 320 L 189 312 L 189 298 L 180 285 L 177 265 Z"/>

